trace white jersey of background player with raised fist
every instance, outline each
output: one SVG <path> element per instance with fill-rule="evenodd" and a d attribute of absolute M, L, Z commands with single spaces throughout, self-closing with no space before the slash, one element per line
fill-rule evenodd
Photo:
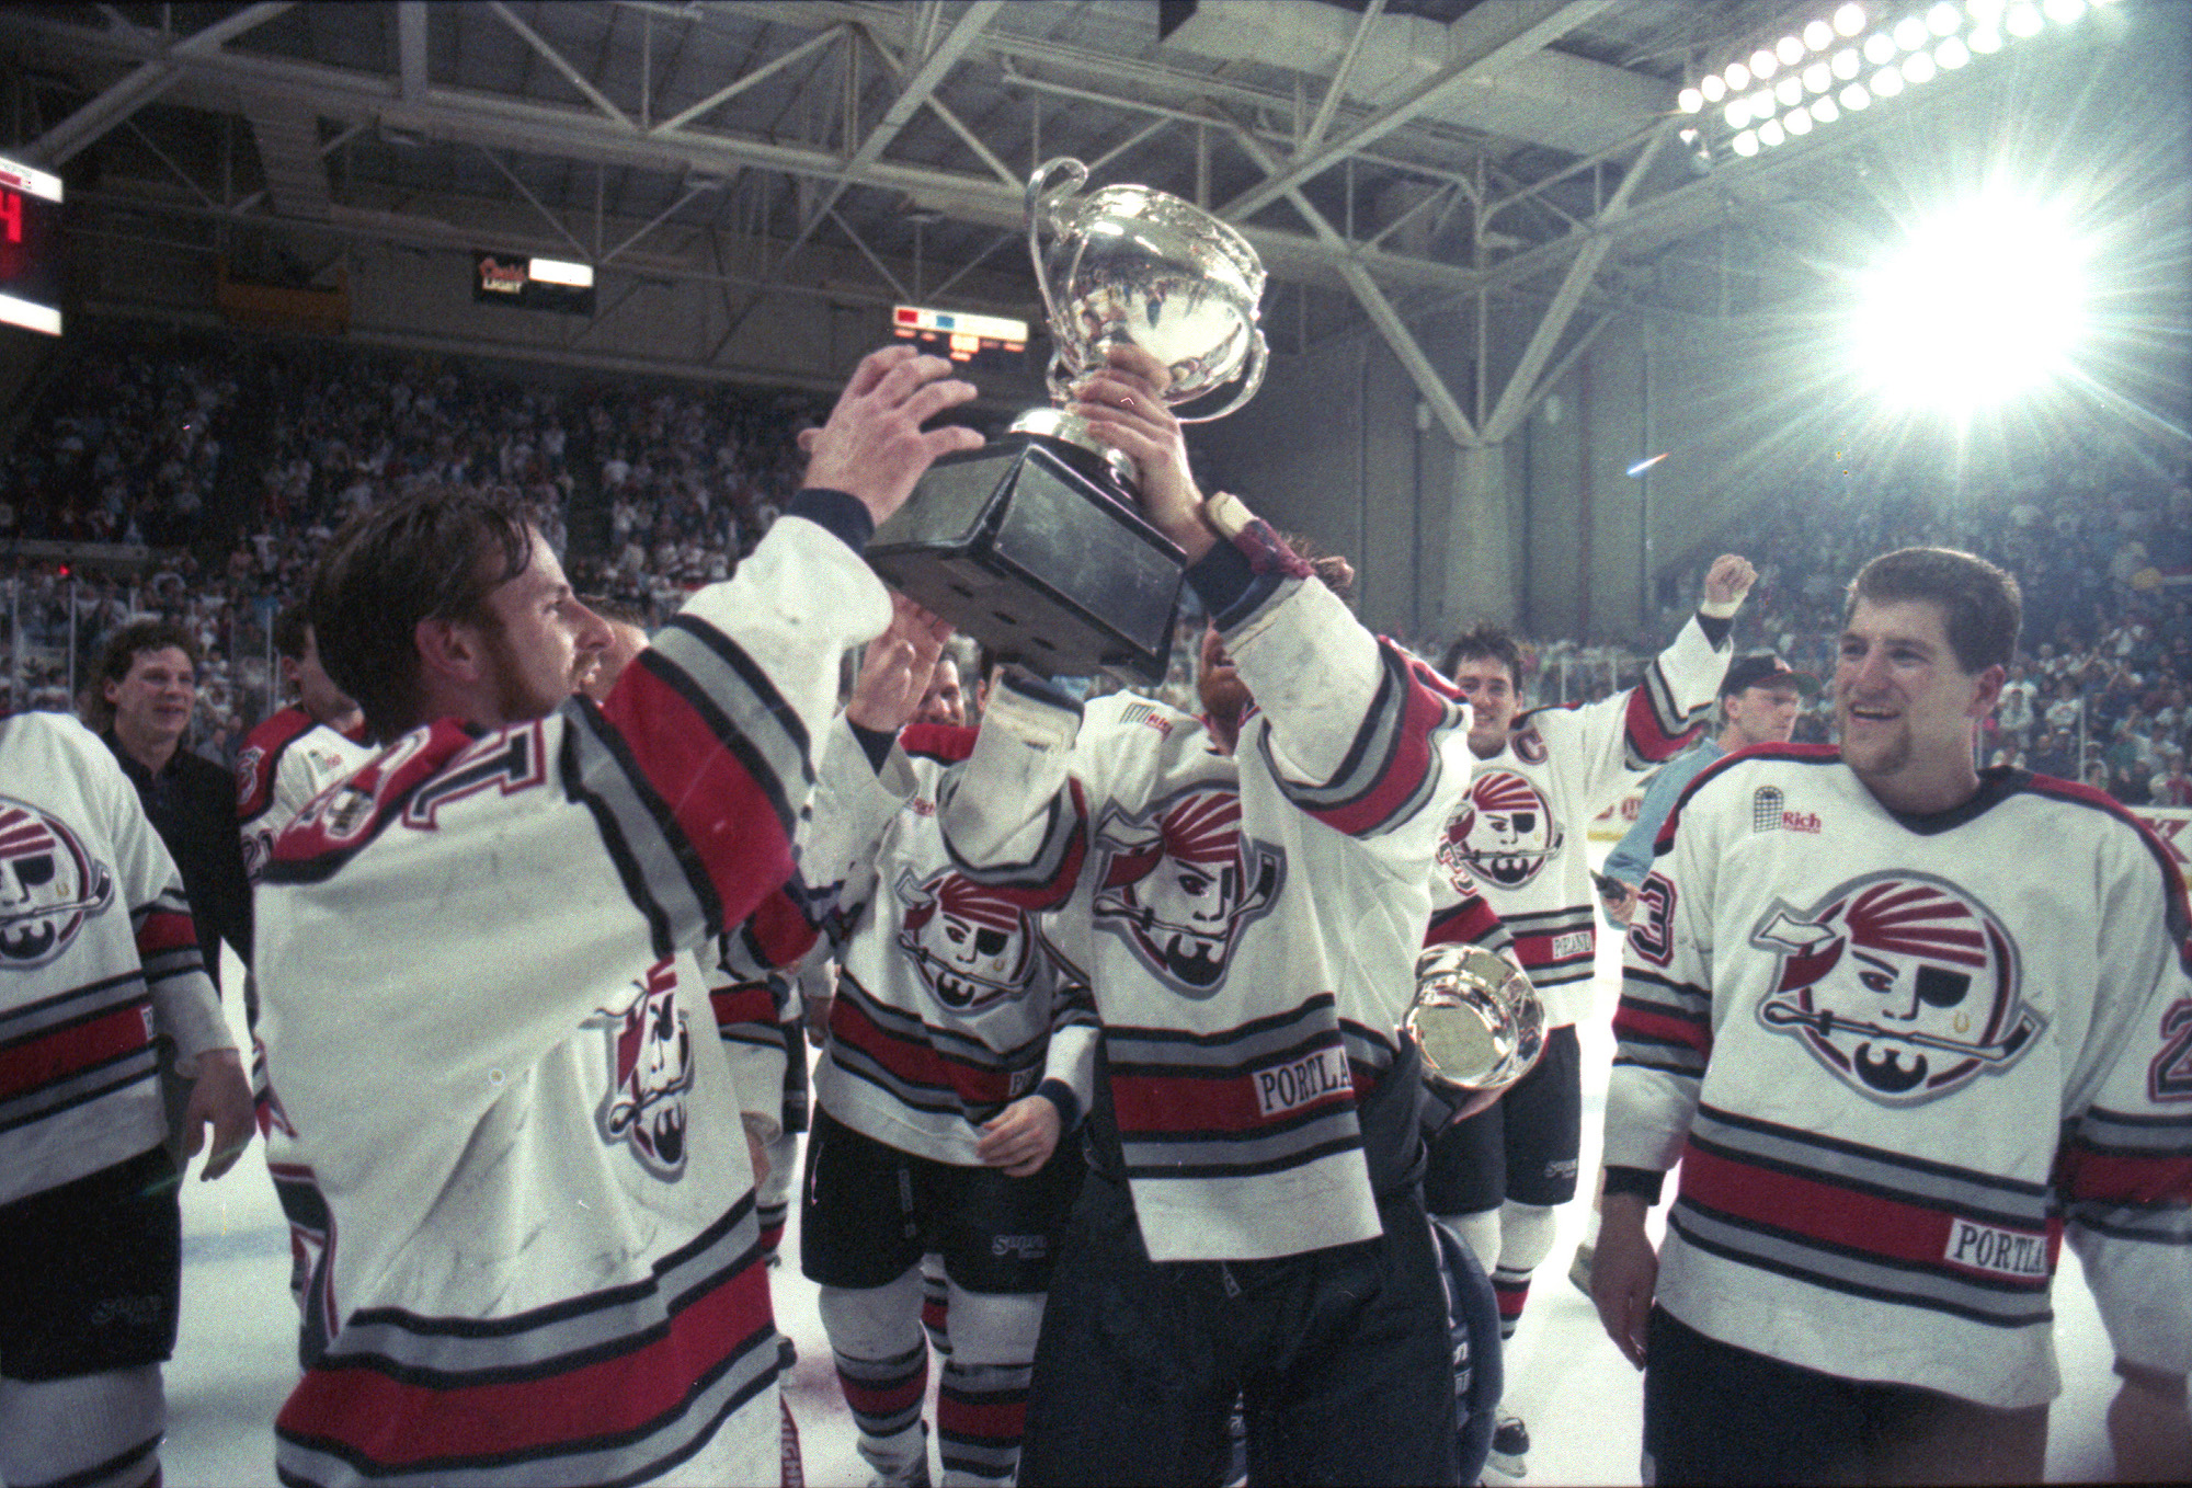
<path fill-rule="evenodd" d="M 1473 879 L 1515 936 L 1548 1028 L 1591 1012 L 1591 817 L 1690 743 L 1729 655 L 1692 616 L 1637 686 L 1580 708 L 1526 712 L 1499 754 L 1473 763 L 1469 793 L 1438 844 L 1436 914 L 1462 901 Z"/>

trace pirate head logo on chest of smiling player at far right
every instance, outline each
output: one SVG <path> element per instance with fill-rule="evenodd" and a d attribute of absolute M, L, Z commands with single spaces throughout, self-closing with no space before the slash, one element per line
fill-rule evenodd
<path fill-rule="evenodd" d="M 1758 1019 L 1883 1104 L 1999 1074 L 2045 1026 L 2001 920 L 1929 874 L 1870 874 L 1804 912 L 1776 901 L 1751 945 L 1780 958 Z"/>

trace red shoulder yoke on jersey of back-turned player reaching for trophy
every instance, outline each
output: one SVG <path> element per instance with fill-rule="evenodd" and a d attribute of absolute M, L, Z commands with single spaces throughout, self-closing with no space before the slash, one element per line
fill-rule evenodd
<path fill-rule="evenodd" d="M 265 883 L 329 879 L 397 820 L 434 828 L 438 813 L 467 795 L 509 795 L 546 780 L 546 719 L 498 732 L 456 719 L 427 723 L 313 795 L 274 839 Z"/>

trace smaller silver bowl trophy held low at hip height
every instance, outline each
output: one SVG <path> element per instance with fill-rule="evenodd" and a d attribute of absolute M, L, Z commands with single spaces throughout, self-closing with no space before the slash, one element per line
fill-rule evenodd
<path fill-rule="evenodd" d="M 1493 1096 L 1545 1052 L 1545 1006 L 1521 966 L 1497 951 L 1434 945 L 1416 958 L 1416 999 L 1403 1021 L 1440 1085 Z"/>

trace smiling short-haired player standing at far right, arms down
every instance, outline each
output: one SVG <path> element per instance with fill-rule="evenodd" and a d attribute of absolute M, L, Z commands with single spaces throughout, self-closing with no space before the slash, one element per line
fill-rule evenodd
<path fill-rule="evenodd" d="M 1659 835 L 1594 1267 L 1646 1477 L 2039 1481 L 2065 1238 L 2117 1475 L 2192 1477 L 2192 918 L 2124 809 L 1973 767 L 2017 627 L 1982 559 L 1874 559 L 1839 749 L 1723 760 Z"/>

